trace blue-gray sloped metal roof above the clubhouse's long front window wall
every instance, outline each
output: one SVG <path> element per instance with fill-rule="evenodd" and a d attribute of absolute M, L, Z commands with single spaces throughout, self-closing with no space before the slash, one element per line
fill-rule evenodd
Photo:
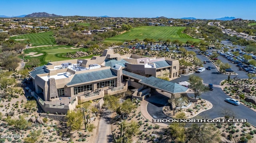
<path fill-rule="evenodd" d="M 116 77 L 116 74 L 111 69 L 80 73 L 80 74 L 75 74 L 72 80 L 68 82 L 66 85 L 79 84 L 79 83 L 90 82 L 94 80 L 104 80 L 104 78 L 111 78 L 111 77 Z"/>

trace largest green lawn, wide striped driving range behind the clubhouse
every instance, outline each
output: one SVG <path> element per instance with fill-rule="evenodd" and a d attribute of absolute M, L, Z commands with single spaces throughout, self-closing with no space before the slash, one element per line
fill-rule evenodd
<path fill-rule="evenodd" d="M 200 39 L 194 39 L 193 37 L 182 33 L 182 31 L 186 27 L 166 27 L 166 26 L 140 26 L 132 28 L 130 31 L 127 31 L 123 34 L 116 35 L 111 38 L 105 39 L 104 42 L 124 42 L 125 40 L 134 40 L 138 38 L 139 40 L 144 40 L 145 38 L 155 39 L 158 41 L 159 38 L 164 40 L 178 39 L 182 42 L 186 42 L 188 40 L 191 41 L 200 41 Z"/>

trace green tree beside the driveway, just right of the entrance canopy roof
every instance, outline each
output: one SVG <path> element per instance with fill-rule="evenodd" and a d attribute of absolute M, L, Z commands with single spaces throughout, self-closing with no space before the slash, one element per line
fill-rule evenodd
<path fill-rule="evenodd" d="M 200 96 L 203 92 L 208 90 L 208 88 L 206 86 L 204 86 L 201 77 L 195 76 L 195 75 L 190 75 L 188 80 L 190 83 L 189 87 L 193 90 L 195 98 Z"/>

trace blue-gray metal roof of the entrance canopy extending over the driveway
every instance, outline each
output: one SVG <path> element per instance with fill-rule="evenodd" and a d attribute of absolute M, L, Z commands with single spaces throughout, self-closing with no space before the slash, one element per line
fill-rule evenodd
<path fill-rule="evenodd" d="M 158 88 L 160 90 L 164 90 L 166 92 L 170 92 L 173 94 L 186 92 L 188 90 L 188 88 L 186 88 L 185 86 L 167 80 L 162 80 L 160 78 L 156 78 L 153 76 L 144 78 L 141 81 L 139 81 L 139 83 L 150 86 L 152 88 Z"/>

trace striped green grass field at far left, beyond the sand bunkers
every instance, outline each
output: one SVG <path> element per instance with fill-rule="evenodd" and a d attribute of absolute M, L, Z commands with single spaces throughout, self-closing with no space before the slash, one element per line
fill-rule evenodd
<path fill-rule="evenodd" d="M 10 39 L 14 39 L 14 40 L 15 39 L 29 39 L 29 43 L 32 44 L 32 46 L 55 45 L 56 44 L 52 31 L 18 35 L 18 36 L 10 37 Z M 27 40 L 24 40 L 24 41 L 27 41 Z"/>

